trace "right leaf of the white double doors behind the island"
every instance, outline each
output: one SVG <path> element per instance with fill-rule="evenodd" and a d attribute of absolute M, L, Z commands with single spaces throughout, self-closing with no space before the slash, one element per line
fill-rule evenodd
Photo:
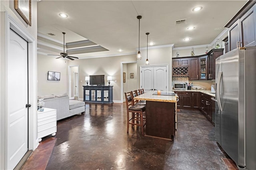
<path fill-rule="evenodd" d="M 154 67 L 154 89 L 167 91 L 166 66 Z"/>

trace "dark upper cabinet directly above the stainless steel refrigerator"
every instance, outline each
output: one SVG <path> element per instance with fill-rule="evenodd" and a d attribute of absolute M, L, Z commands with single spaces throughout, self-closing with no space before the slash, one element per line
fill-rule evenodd
<path fill-rule="evenodd" d="M 256 1 L 248 1 L 226 24 L 229 49 L 256 45 Z"/>

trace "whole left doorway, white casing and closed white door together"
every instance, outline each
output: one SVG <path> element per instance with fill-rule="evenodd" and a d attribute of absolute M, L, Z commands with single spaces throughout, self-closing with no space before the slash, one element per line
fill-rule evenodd
<path fill-rule="evenodd" d="M 3 14 L 6 20 L 0 21 L 5 28 L 5 48 L 1 49 L 5 55 L 0 57 L 0 169 L 13 169 L 38 146 L 36 40 L 8 12 Z"/>

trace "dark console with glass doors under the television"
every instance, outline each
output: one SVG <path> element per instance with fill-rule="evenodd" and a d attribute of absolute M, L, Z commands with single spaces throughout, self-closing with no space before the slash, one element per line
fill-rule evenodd
<path fill-rule="evenodd" d="M 84 102 L 86 103 L 113 103 L 113 86 L 84 85 Z"/>

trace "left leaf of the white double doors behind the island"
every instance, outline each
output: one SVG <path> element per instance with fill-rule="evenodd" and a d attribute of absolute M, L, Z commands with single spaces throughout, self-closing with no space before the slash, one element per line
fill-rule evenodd
<path fill-rule="evenodd" d="M 154 68 L 153 67 L 142 67 L 140 71 L 141 88 L 144 91 L 150 91 L 154 89 Z"/>

